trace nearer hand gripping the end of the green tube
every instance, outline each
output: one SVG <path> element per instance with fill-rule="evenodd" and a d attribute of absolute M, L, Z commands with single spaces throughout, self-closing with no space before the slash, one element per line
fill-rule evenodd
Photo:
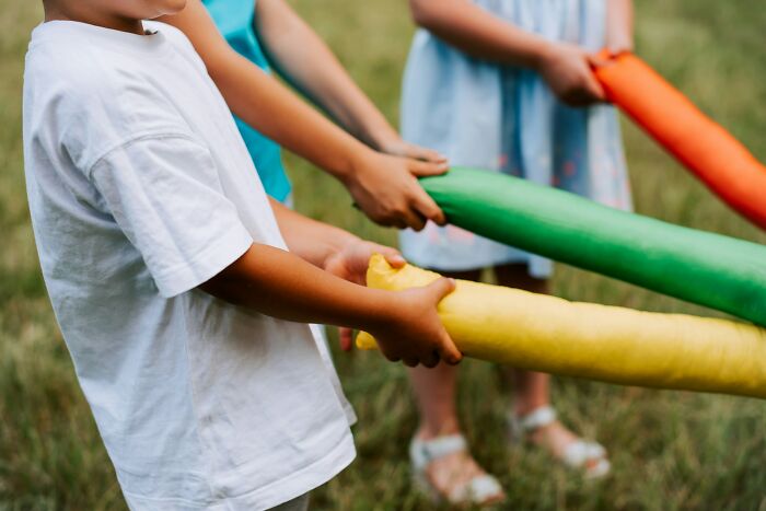
<path fill-rule="evenodd" d="M 445 219 L 417 177 L 446 171 L 446 161 L 420 161 L 368 151 L 353 165 L 346 186 L 373 222 L 419 231 L 428 220 L 443 225 Z"/>

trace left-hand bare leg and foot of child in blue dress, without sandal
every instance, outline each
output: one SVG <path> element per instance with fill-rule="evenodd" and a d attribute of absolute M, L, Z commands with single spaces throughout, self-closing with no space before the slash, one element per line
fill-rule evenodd
<path fill-rule="evenodd" d="M 443 274 L 463 280 L 478 280 L 480 271 Z M 432 440 L 438 437 L 460 433 L 455 405 L 457 368 L 440 363 L 433 369 L 423 367 L 409 370 L 409 376 L 420 413 L 420 426 L 416 437 Z M 463 486 L 485 472 L 468 452 L 460 452 L 434 460 L 426 469 L 431 484 L 442 493 L 449 495 L 453 488 Z M 498 495 L 491 501 L 501 500 Z"/>

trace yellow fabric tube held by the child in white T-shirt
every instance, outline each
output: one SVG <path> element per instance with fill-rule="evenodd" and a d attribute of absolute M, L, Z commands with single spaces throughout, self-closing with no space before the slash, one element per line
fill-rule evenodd
<path fill-rule="evenodd" d="M 438 274 L 370 260 L 368 286 L 405 290 Z M 623 385 L 766 398 L 766 330 L 751 324 L 578 303 L 457 281 L 439 315 L 468 357 Z M 365 333 L 361 349 L 375 349 Z"/>

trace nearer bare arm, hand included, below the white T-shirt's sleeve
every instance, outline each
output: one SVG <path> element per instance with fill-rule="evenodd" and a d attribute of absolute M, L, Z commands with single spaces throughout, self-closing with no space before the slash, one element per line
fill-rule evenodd
<path fill-rule="evenodd" d="M 410 367 L 462 358 L 437 314 L 437 304 L 454 289 L 448 279 L 386 292 L 343 280 L 289 252 L 254 244 L 200 289 L 281 320 L 370 332 L 386 358 Z"/>

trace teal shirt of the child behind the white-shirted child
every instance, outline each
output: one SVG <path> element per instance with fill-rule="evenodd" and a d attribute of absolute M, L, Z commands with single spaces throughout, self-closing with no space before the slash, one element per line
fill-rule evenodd
<path fill-rule="evenodd" d="M 240 55 L 269 72 L 268 60 L 255 33 L 255 0 L 202 0 L 218 30 Z M 291 185 L 282 165 L 281 148 L 234 116 L 266 193 L 283 202 Z"/>

